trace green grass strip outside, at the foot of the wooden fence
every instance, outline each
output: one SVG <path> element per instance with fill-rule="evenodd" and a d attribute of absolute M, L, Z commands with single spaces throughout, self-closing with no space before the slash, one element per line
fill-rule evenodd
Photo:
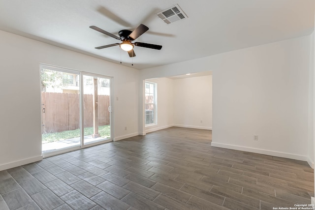
<path fill-rule="evenodd" d="M 98 126 L 98 133 L 101 137 L 110 138 L 110 125 Z M 89 136 L 91 134 L 93 134 L 93 127 L 85 127 L 84 135 Z M 42 135 L 42 143 L 45 144 L 50 142 L 57 142 L 60 140 L 72 139 L 76 137 L 80 137 L 80 129 L 66 130 L 56 133 L 46 133 Z"/>

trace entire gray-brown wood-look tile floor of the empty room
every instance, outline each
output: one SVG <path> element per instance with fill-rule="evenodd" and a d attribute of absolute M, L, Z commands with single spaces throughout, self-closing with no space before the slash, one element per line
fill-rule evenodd
<path fill-rule="evenodd" d="M 171 127 L 0 172 L 0 210 L 272 210 L 310 204 L 306 162 Z"/>

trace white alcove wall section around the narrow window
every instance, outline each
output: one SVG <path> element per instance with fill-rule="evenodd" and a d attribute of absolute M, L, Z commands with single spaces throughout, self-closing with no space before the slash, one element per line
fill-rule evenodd
<path fill-rule="evenodd" d="M 169 78 L 155 78 L 146 81 L 157 83 L 158 87 L 158 123 L 145 127 L 146 133 L 173 126 L 173 80 Z"/>

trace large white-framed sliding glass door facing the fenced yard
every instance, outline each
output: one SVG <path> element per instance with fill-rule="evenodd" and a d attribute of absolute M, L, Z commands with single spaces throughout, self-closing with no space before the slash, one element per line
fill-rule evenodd
<path fill-rule="evenodd" d="M 110 141 L 111 78 L 49 65 L 40 78 L 44 155 Z"/>

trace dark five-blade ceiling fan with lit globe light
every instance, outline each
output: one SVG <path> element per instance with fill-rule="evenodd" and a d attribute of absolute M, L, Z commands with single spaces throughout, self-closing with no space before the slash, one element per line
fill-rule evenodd
<path fill-rule="evenodd" d="M 136 38 L 138 38 L 139 36 L 141 36 L 144 32 L 146 32 L 147 30 L 149 30 L 148 27 L 146 27 L 143 24 L 140 24 L 140 26 L 138 26 L 135 30 L 131 31 L 131 30 L 120 30 L 119 31 L 119 36 L 116 36 L 110 32 L 107 32 L 105 30 L 102 30 L 96 26 L 90 26 L 91 29 L 97 30 L 98 32 L 104 33 L 108 36 L 111 36 L 115 39 L 121 40 L 123 41 L 122 43 L 114 43 L 114 44 L 108 44 L 108 45 L 104 45 L 104 46 L 100 46 L 100 47 L 95 47 L 95 49 L 104 49 L 107 47 L 113 47 L 116 45 L 119 45 L 120 48 L 122 48 L 122 50 L 125 50 L 128 52 L 129 57 L 135 57 L 136 54 L 133 51 L 133 47 L 134 46 L 138 46 L 138 47 L 146 47 L 146 48 L 151 48 L 151 49 L 155 49 L 155 50 L 160 50 L 162 48 L 161 45 L 156 45 L 156 44 L 148 44 L 148 43 L 143 43 L 143 42 L 134 42 L 131 43 L 131 41 L 135 40 Z"/>

